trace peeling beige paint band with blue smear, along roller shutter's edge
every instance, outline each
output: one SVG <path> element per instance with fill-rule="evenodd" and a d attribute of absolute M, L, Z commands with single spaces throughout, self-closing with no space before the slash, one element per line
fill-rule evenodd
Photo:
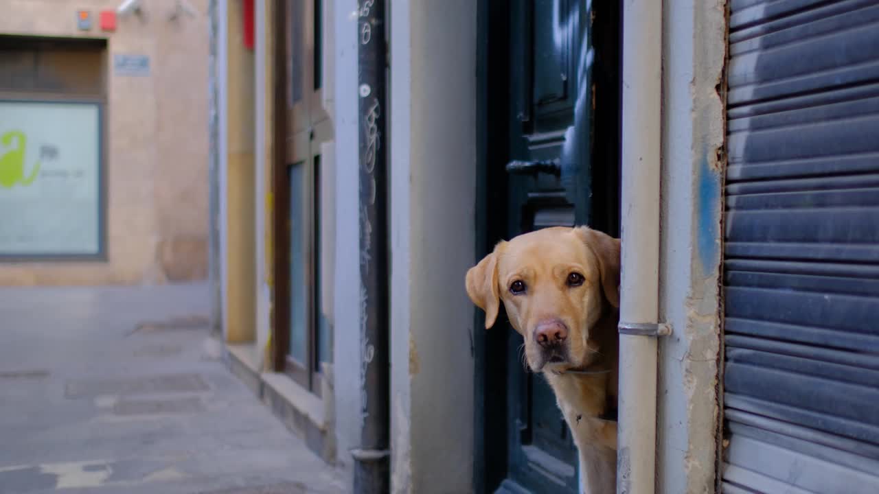
<path fill-rule="evenodd" d="M 686 301 L 684 390 L 689 423 L 685 455 L 686 492 L 713 492 L 718 431 L 717 373 L 721 352 L 720 282 L 723 216 L 726 7 L 723 0 L 694 4 L 693 148 L 694 253 Z"/>

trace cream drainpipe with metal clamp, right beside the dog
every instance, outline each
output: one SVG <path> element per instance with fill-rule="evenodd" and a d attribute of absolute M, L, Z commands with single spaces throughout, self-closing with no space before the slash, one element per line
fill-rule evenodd
<path fill-rule="evenodd" d="M 656 482 L 662 2 L 623 3 L 622 249 L 617 492 Z"/>

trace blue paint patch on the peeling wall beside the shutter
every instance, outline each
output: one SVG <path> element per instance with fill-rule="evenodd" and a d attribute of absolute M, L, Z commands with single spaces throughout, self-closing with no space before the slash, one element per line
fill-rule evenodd
<path fill-rule="evenodd" d="M 703 149 L 696 209 L 696 249 L 702 272 L 714 271 L 720 260 L 720 186 L 720 174 L 708 163 L 708 151 Z"/>

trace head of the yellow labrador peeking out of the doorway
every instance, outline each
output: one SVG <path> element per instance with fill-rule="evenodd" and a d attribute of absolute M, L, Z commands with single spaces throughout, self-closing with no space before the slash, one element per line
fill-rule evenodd
<path fill-rule="evenodd" d="M 494 325 L 504 301 L 534 371 L 585 367 L 605 301 L 620 306 L 620 240 L 587 227 L 540 229 L 501 242 L 467 272 L 467 294 Z"/>

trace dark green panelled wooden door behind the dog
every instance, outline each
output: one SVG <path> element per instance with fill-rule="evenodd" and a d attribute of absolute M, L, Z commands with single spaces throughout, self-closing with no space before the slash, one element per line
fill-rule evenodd
<path fill-rule="evenodd" d="M 579 224 L 615 235 L 616 40 L 602 54 L 607 74 L 597 84 L 595 12 L 587 2 L 517 0 L 509 8 L 505 237 Z M 611 9 L 616 7 L 601 20 L 615 26 L 617 11 Z M 605 31 L 614 29 L 605 25 L 598 32 Z M 608 128 L 596 126 L 599 88 Z M 599 139 L 604 142 L 597 145 Z M 577 492 L 577 449 L 553 391 L 521 364 L 519 334 L 498 330 L 507 335 L 507 463 L 499 491 Z"/>

